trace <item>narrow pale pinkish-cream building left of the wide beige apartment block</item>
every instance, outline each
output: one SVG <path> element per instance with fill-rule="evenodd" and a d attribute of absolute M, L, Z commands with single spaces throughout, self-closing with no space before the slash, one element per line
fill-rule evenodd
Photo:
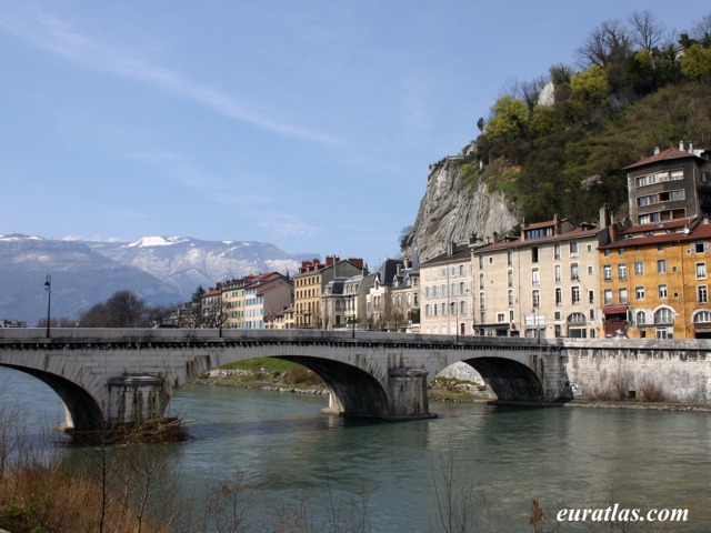
<path fill-rule="evenodd" d="M 450 243 L 445 253 L 423 261 L 420 264 L 420 333 L 474 333 L 469 245 Z"/>

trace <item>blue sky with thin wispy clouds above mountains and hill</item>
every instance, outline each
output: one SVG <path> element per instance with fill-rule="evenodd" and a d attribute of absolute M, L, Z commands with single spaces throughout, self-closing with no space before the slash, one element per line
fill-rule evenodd
<path fill-rule="evenodd" d="M 399 252 L 428 167 L 601 21 L 707 2 L 0 0 L 0 233 Z"/>

